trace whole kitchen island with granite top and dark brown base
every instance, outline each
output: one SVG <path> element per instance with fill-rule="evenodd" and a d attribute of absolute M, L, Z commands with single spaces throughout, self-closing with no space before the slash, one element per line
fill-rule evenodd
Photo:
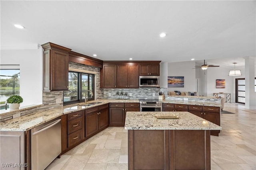
<path fill-rule="evenodd" d="M 129 170 L 210 170 L 210 130 L 221 127 L 187 111 L 179 119 L 127 112 Z"/>

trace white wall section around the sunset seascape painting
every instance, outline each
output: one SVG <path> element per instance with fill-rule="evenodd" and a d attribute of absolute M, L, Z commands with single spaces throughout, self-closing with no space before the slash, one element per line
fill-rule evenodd
<path fill-rule="evenodd" d="M 195 92 L 196 69 L 192 69 L 194 67 L 194 61 L 168 63 L 168 76 L 184 76 L 184 87 L 172 87 L 168 88 L 168 91 Z"/>

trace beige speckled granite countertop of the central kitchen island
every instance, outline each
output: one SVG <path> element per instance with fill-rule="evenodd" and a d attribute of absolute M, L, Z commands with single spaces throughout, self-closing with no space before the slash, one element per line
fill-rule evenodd
<path fill-rule="evenodd" d="M 179 119 L 157 119 L 152 113 L 126 112 L 124 128 L 128 130 L 221 130 L 222 127 L 206 121 L 188 111 L 163 111 L 162 113 L 180 113 Z"/>

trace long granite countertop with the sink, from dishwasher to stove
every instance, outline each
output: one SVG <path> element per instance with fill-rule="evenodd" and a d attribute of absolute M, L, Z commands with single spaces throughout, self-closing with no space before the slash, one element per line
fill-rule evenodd
<path fill-rule="evenodd" d="M 64 114 L 72 113 L 75 111 L 80 111 L 88 109 L 95 106 L 100 106 L 108 103 L 138 103 L 138 100 L 115 100 L 115 99 L 102 99 L 87 102 L 90 104 L 92 102 L 102 102 L 100 104 L 94 104 L 92 106 L 84 106 L 85 103 L 71 104 L 66 106 L 61 106 L 57 108 L 35 111 L 21 117 L 10 119 L 7 121 L 0 122 L 0 131 L 28 131 L 38 125 L 42 125 L 47 121 L 50 121 L 56 117 Z"/>

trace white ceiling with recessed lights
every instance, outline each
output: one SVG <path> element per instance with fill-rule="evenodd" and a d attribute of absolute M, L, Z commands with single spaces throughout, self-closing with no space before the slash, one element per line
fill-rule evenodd
<path fill-rule="evenodd" d="M 1 0 L 0 8 L 1 49 L 52 42 L 101 60 L 216 64 L 256 56 L 256 1 Z"/>

